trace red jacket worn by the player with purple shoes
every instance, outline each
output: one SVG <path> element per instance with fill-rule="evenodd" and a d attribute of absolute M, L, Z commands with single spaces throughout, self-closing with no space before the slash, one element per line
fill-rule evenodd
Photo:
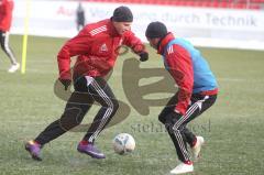
<path fill-rule="evenodd" d="M 78 56 L 74 66 L 74 77 L 106 76 L 112 69 L 121 45 L 131 47 L 136 54 L 144 51 L 143 43 L 133 32 L 118 34 L 109 19 L 86 25 L 59 51 L 57 55 L 59 78 L 70 79 L 73 56 Z"/>

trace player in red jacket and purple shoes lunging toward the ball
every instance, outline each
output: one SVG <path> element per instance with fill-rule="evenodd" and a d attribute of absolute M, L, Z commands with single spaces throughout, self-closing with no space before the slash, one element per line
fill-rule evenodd
<path fill-rule="evenodd" d="M 73 70 L 75 91 L 69 97 L 62 118 L 25 144 L 32 158 L 41 161 L 43 145 L 78 125 L 95 101 L 101 108 L 77 150 L 95 158 L 106 157 L 95 146 L 95 140 L 114 116 L 119 103 L 105 77 L 112 69 L 121 45 L 131 47 L 142 62 L 148 58 L 141 40 L 131 31 L 132 21 L 131 10 L 119 7 L 111 19 L 86 25 L 62 47 L 57 61 L 59 80 L 66 90 L 72 83 L 70 57 L 77 56 Z"/>

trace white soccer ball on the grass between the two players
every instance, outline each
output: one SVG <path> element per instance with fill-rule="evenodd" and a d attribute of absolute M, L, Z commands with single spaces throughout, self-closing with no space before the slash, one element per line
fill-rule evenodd
<path fill-rule="evenodd" d="M 135 141 L 134 138 L 129 133 L 120 133 L 113 139 L 113 150 L 118 154 L 125 154 L 134 151 Z"/>

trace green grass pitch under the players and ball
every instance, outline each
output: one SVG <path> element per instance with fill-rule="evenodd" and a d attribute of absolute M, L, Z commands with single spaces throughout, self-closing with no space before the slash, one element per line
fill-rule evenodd
<path fill-rule="evenodd" d="M 76 146 L 85 133 L 68 132 L 43 149 L 43 162 L 31 160 L 24 151 L 24 142 L 34 139 L 50 122 L 59 118 L 64 109 L 65 101 L 53 91 L 57 78 L 56 54 L 64 42 L 30 36 L 25 75 L 8 74 L 9 61 L 0 52 L 0 174 L 168 174 L 178 161 L 167 133 L 157 120 L 163 107 L 151 107 L 147 116 L 132 108 L 121 79 L 127 55 L 118 59 L 109 84 L 116 96 L 131 107 L 131 113 L 120 124 L 105 130 L 97 140 L 107 158 L 98 161 L 79 154 Z M 13 35 L 10 43 L 20 58 L 22 37 Z M 163 67 L 162 59 L 153 50 L 150 51 L 150 62 L 141 66 Z M 201 52 L 218 78 L 220 94 L 217 103 L 189 125 L 207 141 L 194 174 L 262 175 L 264 52 L 217 48 L 201 48 Z M 84 123 L 92 119 L 96 109 L 86 116 Z M 120 132 L 135 138 L 136 149 L 130 155 L 113 153 L 111 141 Z"/>

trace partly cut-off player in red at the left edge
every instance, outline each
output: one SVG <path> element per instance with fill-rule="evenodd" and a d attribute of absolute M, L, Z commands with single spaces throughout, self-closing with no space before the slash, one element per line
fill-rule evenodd
<path fill-rule="evenodd" d="M 9 31 L 12 23 L 13 0 L 0 0 L 0 44 L 3 52 L 11 62 L 9 73 L 14 73 L 20 68 L 12 50 L 9 46 Z"/>

